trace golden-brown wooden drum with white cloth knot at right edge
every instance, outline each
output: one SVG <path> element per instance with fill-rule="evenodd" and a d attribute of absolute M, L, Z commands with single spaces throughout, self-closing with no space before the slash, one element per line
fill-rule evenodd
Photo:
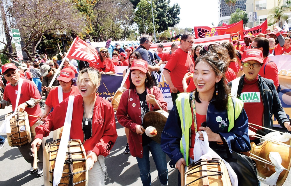
<path fill-rule="evenodd" d="M 291 140 L 288 141 L 288 145 L 291 145 Z M 270 152 L 278 152 L 282 158 L 281 165 L 290 170 L 291 167 L 291 148 L 282 144 L 272 143 L 270 141 L 264 141 L 261 145 L 255 145 L 254 142 L 251 143 L 251 154 L 252 158 L 256 162 L 256 168 L 258 171 L 258 176 L 260 177 L 270 177 L 276 172 L 275 166 L 265 163 L 264 160 L 271 162 L 269 158 Z M 285 182 L 289 171 L 283 170 L 277 180 L 276 185 L 281 186 Z"/>

